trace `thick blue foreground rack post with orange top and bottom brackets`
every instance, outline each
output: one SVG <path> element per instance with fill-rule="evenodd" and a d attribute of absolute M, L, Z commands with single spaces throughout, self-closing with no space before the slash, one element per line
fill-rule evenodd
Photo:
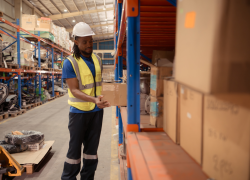
<path fill-rule="evenodd" d="M 140 131 L 140 0 L 127 0 L 127 131 Z M 128 167 L 128 180 L 132 180 Z"/>

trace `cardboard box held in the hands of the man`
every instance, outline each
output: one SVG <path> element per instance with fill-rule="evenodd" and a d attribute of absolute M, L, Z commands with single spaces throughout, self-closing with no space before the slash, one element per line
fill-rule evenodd
<path fill-rule="evenodd" d="M 102 83 L 102 95 L 111 106 L 127 106 L 127 84 Z"/>

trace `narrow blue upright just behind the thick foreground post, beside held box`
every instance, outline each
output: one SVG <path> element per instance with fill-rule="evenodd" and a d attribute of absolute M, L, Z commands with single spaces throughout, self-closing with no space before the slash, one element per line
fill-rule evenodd
<path fill-rule="evenodd" d="M 121 16 L 122 16 L 122 2 L 118 1 L 118 37 L 120 34 Z M 122 59 L 121 47 L 117 46 L 117 54 L 118 54 L 118 73 L 117 74 L 118 74 L 118 80 L 121 80 L 120 78 L 123 77 L 123 71 L 122 71 L 123 70 L 123 63 L 122 63 L 123 59 Z M 121 117 L 121 109 L 120 108 L 118 108 L 118 124 L 119 124 L 119 145 L 121 145 L 123 142 L 123 124 L 122 124 L 122 117 Z"/>

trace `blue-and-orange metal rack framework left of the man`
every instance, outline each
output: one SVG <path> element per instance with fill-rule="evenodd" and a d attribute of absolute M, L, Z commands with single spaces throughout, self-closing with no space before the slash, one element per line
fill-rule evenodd
<path fill-rule="evenodd" d="M 40 55 L 40 49 L 43 48 L 43 49 L 46 49 L 47 52 L 50 51 L 51 53 L 49 55 L 52 56 L 52 68 L 54 68 L 54 54 L 58 54 L 56 52 L 54 52 L 54 48 L 58 49 L 59 51 L 61 51 L 61 53 L 59 55 L 61 55 L 61 60 L 63 59 L 63 53 L 65 53 L 65 55 L 69 55 L 71 54 L 69 51 L 65 51 L 64 49 L 62 48 L 59 48 L 57 47 L 55 44 L 52 44 L 42 38 L 40 38 L 40 31 L 38 31 L 38 36 L 22 29 L 19 27 L 19 19 L 16 19 L 16 22 L 9 22 L 3 18 L 0 17 L 0 23 L 5 23 L 5 24 L 8 24 L 10 26 L 12 26 L 13 28 L 16 29 L 16 37 L 14 35 L 11 35 L 9 34 L 8 32 L 6 32 L 5 30 L 3 30 L 2 28 L 0 28 L 0 33 L 1 34 L 5 34 L 7 36 L 10 36 L 12 38 L 14 38 L 16 41 L 14 41 L 12 44 L 14 43 L 17 43 L 17 63 L 19 65 L 19 69 L 5 69 L 5 68 L 0 68 L 0 72 L 2 73 L 6 73 L 7 74 L 7 77 L 9 77 L 10 73 L 13 73 L 13 74 L 16 74 L 14 77 L 10 78 L 10 79 L 1 79 L 1 82 L 4 82 L 4 83 L 7 83 L 9 85 L 10 81 L 13 81 L 14 78 L 17 76 L 18 77 L 18 87 L 17 87 L 17 91 L 18 91 L 18 106 L 21 108 L 22 107 L 22 93 L 21 91 L 23 90 L 22 89 L 22 86 L 27 86 L 27 88 L 29 88 L 29 86 L 33 86 L 32 84 L 32 80 L 34 80 L 34 86 L 35 86 L 35 89 L 37 88 L 37 77 L 38 77 L 38 84 L 39 84 L 39 96 L 41 97 L 41 89 L 42 89 L 42 81 L 44 81 L 44 77 L 43 75 L 46 75 L 47 74 L 47 87 L 49 87 L 49 81 L 50 81 L 50 76 L 52 76 L 52 80 L 51 80 L 51 83 L 52 83 L 52 97 L 55 96 L 54 94 L 54 76 L 56 76 L 56 80 L 60 79 L 61 77 L 61 72 L 55 72 L 55 71 L 44 71 L 44 70 L 41 70 L 41 55 Z M 37 45 L 36 44 L 33 44 L 31 43 L 29 40 L 27 40 L 26 38 L 24 38 L 23 34 L 20 34 L 20 31 L 23 31 L 24 33 L 26 34 L 29 34 L 31 35 L 32 37 L 35 37 L 37 39 Z M 35 46 L 35 55 L 36 55 L 36 50 L 38 50 L 38 67 L 40 70 L 23 70 L 21 69 L 21 50 L 20 50 L 20 41 L 24 41 L 26 43 L 29 43 L 29 44 L 32 44 L 33 46 Z M 50 45 L 51 46 L 51 50 L 46 48 L 46 47 L 42 47 L 41 46 L 41 41 L 45 42 L 46 44 Z M 10 46 L 12 45 L 10 44 Z M 7 48 L 7 47 L 6 47 Z M 47 53 L 47 57 L 49 56 L 48 53 Z M 35 77 L 33 78 L 29 78 L 27 77 L 27 81 L 25 82 L 24 79 L 25 77 L 21 77 L 21 73 L 29 73 L 29 74 L 35 74 Z M 63 88 L 63 81 L 61 81 L 62 84 L 62 88 Z M 28 92 L 28 91 L 27 91 Z"/>

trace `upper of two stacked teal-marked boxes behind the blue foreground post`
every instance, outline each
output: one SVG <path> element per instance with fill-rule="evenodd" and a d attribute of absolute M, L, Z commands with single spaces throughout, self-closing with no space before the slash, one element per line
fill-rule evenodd
<path fill-rule="evenodd" d="M 151 67 L 150 95 L 163 96 L 163 79 L 172 76 L 172 67 Z"/>

